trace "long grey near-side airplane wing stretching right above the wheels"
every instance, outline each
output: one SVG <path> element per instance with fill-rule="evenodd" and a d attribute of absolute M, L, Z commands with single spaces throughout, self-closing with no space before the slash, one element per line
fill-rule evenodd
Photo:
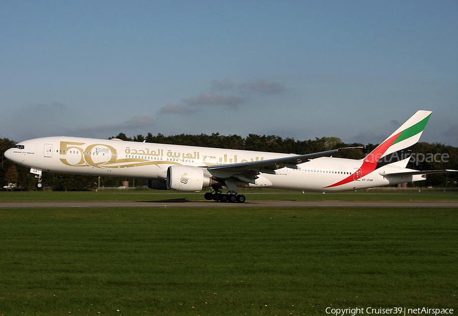
<path fill-rule="evenodd" d="M 249 162 L 242 162 L 242 163 L 233 163 L 233 164 L 217 164 L 208 167 L 209 171 L 218 170 L 224 171 L 227 173 L 232 174 L 244 174 L 248 171 L 257 171 L 264 173 L 268 173 L 269 170 L 273 171 L 276 169 L 280 169 L 283 167 L 290 167 L 296 168 L 296 165 L 299 163 L 303 163 L 308 159 L 328 156 L 329 154 L 333 154 L 343 150 L 349 149 L 356 149 L 356 148 L 363 148 L 363 147 L 346 147 L 346 148 L 339 148 L 328 150 L 325 152 L 313 153 L 313 154 L 306 154 L 306 155 L 292 155 L 288 157 L 282 158 L 275 158 L 275 159 L 268 159 L 268 160 L 261 160 L 261 161 L 249 161 Z"/>

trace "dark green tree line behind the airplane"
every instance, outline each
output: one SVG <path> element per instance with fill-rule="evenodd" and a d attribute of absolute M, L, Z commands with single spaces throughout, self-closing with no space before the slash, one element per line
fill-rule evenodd
<path fill-rule="evenodd" d="M 334 155 L 334 157 L 351 159 L 362 159 L 378 146 L 378 144 L 371 143 L 367 145 L 345 143 L 337 137 L 295 140 L 294 138 L 282 138 L 275 135 L 261 136 L 256 134 L 249 134 L 246 137 L 242 137 L 239 135 L 220 135 L 219 133 L 213 133 L 211 135 L 180 134 L 170 136 L 164 136 L 161 133 L 157 135 L 148 133 L 146 136 L 139 134 L 128 137 L 124 133 L 119 133 L 117 136 L 110 138 L 119 138 L 127 141 L 146 141 L 151 143 L 294 154 L 321 152 L 341 147 L 364 146 L 361 149 L 339 152 Z M 7 138 L 0 139 L 0 154 L 2 157 L 0 188 L 3 188 L 8 183 L 16 183 L 18 188 L 23 190 L 34 189 L 37 179 L 35 179 L 35 175 L 30 174 L 30 169 L 18 166 L 4 158 L 4 152 L 14 145 L 15 142 L 13 140 Z M 458 148 L 441 143 L 419 142 L 415 148 L 415 160 L 409 162 L 407 167 L 418 170 L 458 169 Z M 132 179 L 101 177 L 100 186 L 118 187 L 124 180 L 131 181 L 132 185 Z M 458 175 L 456 174 L 436 174 L 429 175 L 426 181 L 410 185 L 456 187 L 456 181 L 458 181 Z M 98 177 L 44 173 L 43 182 L 53 190 L 92 190 L 98 186 Z M 135 186 L 144 185 L 146 185 L 145 180 L 135 180 Z"/>

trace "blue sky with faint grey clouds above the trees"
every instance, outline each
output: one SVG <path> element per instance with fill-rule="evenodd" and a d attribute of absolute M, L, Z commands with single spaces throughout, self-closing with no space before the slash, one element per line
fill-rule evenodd
<path fill-rule="evenodd" d="M 250 133 L 458 146 L 456 1 L 2 1 L 0 137 Z"/>

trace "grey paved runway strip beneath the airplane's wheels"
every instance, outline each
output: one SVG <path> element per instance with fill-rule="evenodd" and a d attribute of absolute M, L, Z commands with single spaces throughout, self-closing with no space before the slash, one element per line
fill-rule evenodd
<path fill-rule="evenodd" d="M 21 201 L 0 202 L 0 209 L 73 208 L 456 208 L 458 201 L 298 201 L 253 200 L 245 203 L 189 201 L 187 199 L 143 201 Z"/>

